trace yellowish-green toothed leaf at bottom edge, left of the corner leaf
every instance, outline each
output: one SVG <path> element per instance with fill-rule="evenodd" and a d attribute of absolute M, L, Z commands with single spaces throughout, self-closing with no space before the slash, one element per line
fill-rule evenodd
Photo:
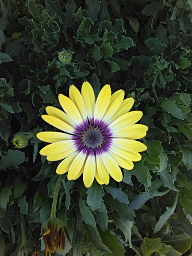
<path fill-rule="evenodd" d="M 159 251 L 161 248 L 161 238 L 143 238 L 143 242 L 140 245 L 140 249 L 144 256 L 150 256 L 154 252 Z"/>

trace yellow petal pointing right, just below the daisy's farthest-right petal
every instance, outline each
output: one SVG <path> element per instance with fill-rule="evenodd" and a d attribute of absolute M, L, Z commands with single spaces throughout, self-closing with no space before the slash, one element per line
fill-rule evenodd
<path fill-rule="evenodd" d="M 112 139 L 112 145 L 118 148 L 121 148 L 125 151 L 133 151 L 133 152 L 142 152 L 147 150 L 145 144 L 137 141 L 137 140 L 129 140 L 129 139 L 121 139 L 114 138 Z"/>

